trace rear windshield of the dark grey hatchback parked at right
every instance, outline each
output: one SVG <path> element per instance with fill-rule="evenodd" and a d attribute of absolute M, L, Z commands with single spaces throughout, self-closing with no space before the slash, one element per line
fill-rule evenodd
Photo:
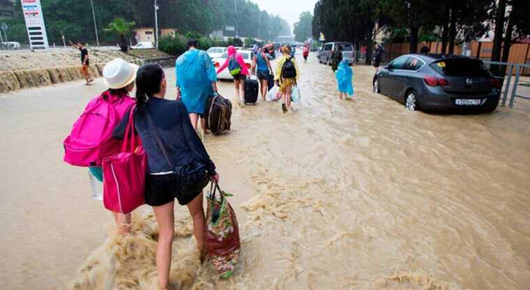
<path fill-rule="evenodd" d="M 488 77 L 490 74 L 478 59 L 444 59 L 430 64 L 440 75 L 448 77 Z"/>

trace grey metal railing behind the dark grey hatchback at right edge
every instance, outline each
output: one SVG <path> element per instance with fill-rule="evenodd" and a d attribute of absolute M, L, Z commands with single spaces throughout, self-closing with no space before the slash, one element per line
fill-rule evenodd
<path fill-rule="evenodd" d="M 520 80 L 522 71 L 524 68 L 530 68 L 530 64 L 524 64 L 524 63 L 503 63 L 500 61 L 483 61 L 486 65 L 499 65 L 499 66 L 506 66 L 506 73 L 505 77 L 499 77 L 495 76 L 498 79 L 504 80 L 504 91 L 501 91 L 502 94 L 502 101 L 501 106 L 506 106 L 506 102 L 508 102 L 508 106 L 510 108 L 513 108 L 515 98 L 522 98 L 524 100 L 530 100 L 530 93 L 529 96 L 523 96 L 522 94 L 517 93 L 517 88 L 519 86 L 529 86 L 530 82 L 522 82 Z M 513 73 L 513 70 L 515 69 L 515 74 Z M 512 77 L 515 75 L 515 79 L 512 84 Z M 510 91 L 511 89 L 511 91 Z M 530 90 L 530 89 L 529 89 Z M 508 100 L 509 95 L 509 100 Z"/>

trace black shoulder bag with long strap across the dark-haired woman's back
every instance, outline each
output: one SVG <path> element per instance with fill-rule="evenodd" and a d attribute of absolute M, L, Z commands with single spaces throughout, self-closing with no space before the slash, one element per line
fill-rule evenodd
<path fill-rule="evenodd" d="M 210 180 L 206 173 L 206 165 L 202 162 L 193 161 L 188 165 L 173 166 L 171 160 L 169 160 L 169 155 L 167 154 L 164 143 L 162 143 L 162 139 L 160 139 L 158 132 L 156 132 L 155 124 L 153 123 L 153 119 L 151 119 L 151 115 L 149 115 L 149 112 L 145 112 L 145 114 L 147 123 L 149 123 L 149 132 L 155 137 L 158 148 L 160 148 L 160 151 L 164 154 L 169 167 L 173 169 L 173 174 L 178 185 L 176 190 L 181 194 L 196 194 L 201 191 Z"/>

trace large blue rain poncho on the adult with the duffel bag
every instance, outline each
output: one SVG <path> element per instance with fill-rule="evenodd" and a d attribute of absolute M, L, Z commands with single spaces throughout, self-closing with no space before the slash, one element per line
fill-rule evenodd
<path fill-rule="evenodd" d="M 175 66 L 176 86 L 181 88 L 188 113 L 203 114 L 206 98 L 213 94 L 211 83 L 217 80 L 210 56 L 199 49 L 188 50 L 176 59 Z"/>

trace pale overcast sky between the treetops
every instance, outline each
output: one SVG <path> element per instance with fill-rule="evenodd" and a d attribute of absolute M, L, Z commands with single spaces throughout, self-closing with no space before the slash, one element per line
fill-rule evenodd
<path fill-rule="evenodd" d="M 280 15 L 291 24 L 291 32 L 294 24 L 298 22 L 300 13 L 310 11 L 313 13 L 317 0 L 250 0 L 257 3 L 259 9 L 266 10 L 269 14 Z"/>

